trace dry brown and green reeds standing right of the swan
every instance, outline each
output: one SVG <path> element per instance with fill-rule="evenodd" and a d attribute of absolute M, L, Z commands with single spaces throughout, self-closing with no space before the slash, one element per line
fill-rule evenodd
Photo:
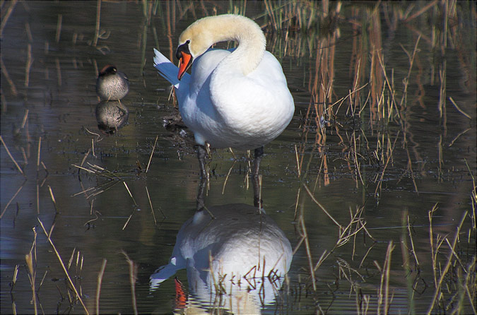
<path fill-rule="evenodd" d="M 332 10 L 328 7 L 325 8 L 327 5 L 325 2 L 326 1 L 322 3 L 322 13 L 327 10 Z M 286 5 L 276 3 L 276 7 L 272 9 L 270 8 L 270 3 L 268 3 L 266 7 L 266 13 L 269 16 L 273 30 L 280 29 L 278 25 L 282 25 L 283 29 L 283 23 L 289 23 L 288 27 L 290 27 L 290 21 L 293 20 L 293 18 L 295 20 L 298 19 L 297 16 L 294 16 L 293 18 L 290 18 L 289 16 L 288 18 L 283 18 L 281 15 L 282 13 L 278 12 L 278 9 L 283 6 Z M 416 11 L 409 10 L 406 12 L 399 11 L 399 8 L 391 10 L 389 4 L 382 4 L 382 6 L 376 4 L 375 7 L 368 8 L 353 8 L 355 11 L 354 16 L 360 14 L 363 17 L 361 21 L 353 21 L 353 30 L 355 30 L 356 35 L 353 37 L 353 58 L 351 59 L 350 74 L 353 77 L 354 88 L 353 90 L 350 90 L 347 96 L 341 97 L 338 101 L 334 101 L 335 95 L 332 92 L 334 90 L 334 51 L 330 47 L 334 47 L 336 40 L 338 40 L 339 31 L 330 30 L 329 34 L 332 34 L 331 37 L 329 35 L 324 39 L 316 40 L 316 42 L 313 42 L 312 44 L 312 47 L 317 47 L 317 50 L 310 49 L 310 59 L 314 58 L 314 64 L 316 66 L 314 73 L 310 71 L 308 81 L 308 88 L 311 95 L 310 103 L 308 104 L 307 111 L 303 114 L 303 124 L 301 126 L 302 141 L 299 146 L 295 145 L 296 169 L 301 184 L 295 202 L 295 220 L 298 223 L 298 227 L 300 227 L 300 239 L 295 247 L 294 253 L 298 251 L 300 246 L 305 246 L 305 253 L 309 265 L 309 280 L 307 280 L 306 283 L 310 283 L 310 286 L 314 291 L 317 290 L 317 276 L 315 275 L 317 269 L 323 265 L 324 261 L 334 257 L 332 254 L 336 252 L 338 247 L 350 242 L 351 239 L 355 240 L 358 235 L 366 235 L 372 239 L 373 242 L 377 241 L 377 239 L 372 237 L 370 231 L 365 227 L 366 222 L 362 218 L 364 207 L 358 208 L 358 211 L 355 214 L 351 212 L 350 221 L 345 227 L 345 225 L 338 223 L 330 215 L 329 211 L 327 211 L 326 208 L 317 201 L 317 198 L 314 197 L 314 191 L 320 183 L 323 183 L 324 186 L 327 186 L 330 183 L 327 174 L 329 170 L 329 162 L 326 150 L 324 150 L 324 148 L 326 148 L 326 137 L 328 133 L 332 134 L 334 131 L 336 136 L 341 139 L 343 152 L 347 152 L 345 155 L 346 160 L 348 161 L 349 170 L 353 174 L 356 187 L 358 188 L 362 186 L 368 191 L 374 186 L 372 187 L 374 191 L 373 195 L 378 202 L 383 189 L 384 180 L 389 177 L 389 168 L 394 164 L 396 152 L 399 152 L 399 156 L 402 156 L 402 153 L 404 152 L 404 156 L 408 160 L 407 170 L 401 174 L 401 179 L 405 176 L 410 177 L 415 192 L 417 194 L 419 193 L 418 183 L 416 182 L 416 172 L 413 170 L 413 165 L 416 164 L 416 160 L 420 159 L 420 156 L 415 150 L 416 143 L 413 141 L 412 133 L 409 132 L 410 126 L 406 119 L 406 112 L 408 107 L 411 106 L 408 104 L 410 84 L 417 81 L 418 87 L 420 88 L 422 86 L 419 77 L 420 73 L 418 72 L 416 76 L 416 71 L 414 71 L 414 69 L 416 66 L 416 60 L 419 58 L 421 38 L 423 38 L 425 34 L 423 34 L 423 32 L 417 32 L 416 40 L 412 49 L 408 50 L 401 44 L 401 49 L 408 59 L 408 71 L 401 78 L 401 87 L 398 87 L 396 83 L 399 82 L 399 80 L 396 78 L 396 73 L 394 69 L 389 69 L 387 61 L 384 59 L 384 49 L 381 42 L 382 25 L 378 13 L 379 11 L 384 10 L 385 14 L 388 14 L 389 16 L 394 15 L 394 18 L 392 19 L 387 18 L 386 22 L 392 28 L 396 28 L 397 22 L 400 20 L 406 23 L 407 21 L 416 18 L 424 18 L 426 14 L 435 16 L 438 14 L 437 8 L 444 11 L 445 18 L 442 19 L 443 25 L 440 31 L 440 36 L 437 36 L 438 38 L 433 40 L 433 43 L 435 43 L 436 49 L 440 49 L 441 52 L 444 52 L 448 42 L 448 40 L 446 40 L 447 35 L 454 37 L 452 42 L 457 40 L 454 35 L 456 26 L 454 25 L 454 28 L 452 28 L 451 31 L 448 24 L 449 18 L 456 17 L 457 9 L 455 1 L 442 1 L 440 3 L 432 1 L 425 6 L 416 8 Z M 336 7 L 334 16 L 339 16 L 340 9 L 341 6 Z M 432 11 L 432 9 L 434 9 L 434 11 Z M 298 11 L 295 11 L 295 13 L 296 12 Z M 288 28 L 285 29 L 288 32 Z M 445 31 L 442 32 L 442 30 Z M 287 42 L 292 41 L 292 39 L 288 37 L 288 33 L 286 35 L 287 36 L 284 39 L 285 44 L 283 44 L 283 46 L 290 47 Z M 290 52 L 287 48 L 283 49 L 281 53 L 283 55 L 299 55 L 300 49 Z M 370 56 L 369 59 L 368 56 Z M 370 69 L 370 71 L 365 73 L 365 69 Z M 321 71 L 321 73 L 318 71 Z M 438 112 L 444 129 L 446 126 L 445 71 L 446 64 L 445 61 L 442 61 L 439 66 L 437 78 L 439 79 L 440 85 Z M 365 82 L 366 78 L 368 79 L 368 82 Z M 458 112 L 471 119 L 466 112 L 461 111 L 457 104 L 454 104 L 450 97 L 449 100 Z M 341 107 L 344 101 L 348 102 L 348 107 Z M 338 102 L 340 102 L 339 105 L 334 106 Z M 332 104 L 332 106 L 326 104 Z M 368 108 L 368 113 L 365 112 L 366 108 Z M 340 109 L 346 109 L 344 115 Z M 347 120 L 350 118 L 352 118 L 353 121 L 358 121 L 358 124 L 356 124 L 356 122 L 353 123 L 354 126 L 358 125 L 358 130 L 349 130 L 349 127 L 343 128 L 347 126 Z M 324 121 L 329 122 L 326 124 Z M 363 123 L 365 126 L 363 126 Z M 375 143 L 371 142 L 372 140 L 370 136 L 367 136 L 367 131 L 363 127 L 367 127 L 366 129 L 370 129 L 372 133 L 377 133 L 372 137 L 375 138 Z M 343 132 L 346 135 L 345 137 L 341 136 Z M 465 132 L 466 131 L 463 131 L 463 133 Z M 459 136 L 460 134 L 457 138 L 459 138 Z M 311 148 L 310 138 L 314 138 L 314 143 Z M 452 141 L 452 143 L 454 143 L 454 141 Z M 450 145 L 452 145 L 452 143 Z M 442 170 L 442 167 L 444 167 L 444 162 L 442 160 L 442 138 L 437 147 L 440 148 L 441 152 L 439 169 L 440 174 L 442 174 L 442 172 L 444 172 Z M 310 182 L 308 177 L 312 176 L 311 170 L 312 163 L 314 162 L 311 157 L 313 155 L 319 157 L 320 162 L 319 169 L 315 175 L 316 179 L 314 179 L 314 188 L 310 189 L 305 183 Z M 310 156 L 310 160 L 305 160 L 307 156 Z M 370 172 L 369 170 L 366 170 L 368 167 L 365 165 L 376 165 L 376 171 L 372 174 L 371 180 Z M 471 194 L 471 213 L 475 213 L 475 180 L 473 179 L 471 170 L 469 170 L 469 174 L 474 183 Z M 312 203 L 314 203 L 317 208 L 321 209 L 331 222 L 334 222 L 338 229 L 338 239 L 336 244 L 332 249 L 325 249 L 322 252 L 322 255 L 316 260 L 316 263 L 315 259 L 312 257 L 310 243 L 307 242 L 308 234 L 306 223 L 303 219 L 303 212 L 305 211 L 305 196 L 303 196 L 303 194 L 307 195 Z M 418 292 L 418 285 L 421 283 L 435 283 L 433 297 L 428 308 L 428 314 L 437 309 L 451 312 L 453 314 L 461 314 L 464 311 L 464 305 L 466 305 L 465 309 L 467 311 L 471 311 L 475 314 L 476 308 L 473 301 L 475 301 L 476 297 L 476 254 L 475 251 L 473 253 L 467 253 L 465 255 L 466 262 L 464 263 L 462 252 L 456 250 L 456 247 L 459 245 L 464 247 L 473 246 L 472 244 L 475 245 L 473 238 L 470 237 L 470 235 L 473 235 L 475 238 L 476 234 L 475 214 L 471 215 L 471 218 L 468 218 L 468 215 L 464 215 L 459 225 L 457 225 L 457 231 L 455 232 L 454 237 L 451 239 L 449 236 L 435 234 L 435 232 L 432 231 L 432 215 L 435 211 L 437 211 L 437 205 L 429 212 L 428 230 L 430 230 L 430 253 L 416 252 L 412 232 L 415 227 L 413 227 L 410 222 L 407 212 L 404 211 L 403 213 L 401 254 L 403 258 L 403 267 L 406 271 L 406 279 L 408 280 L 408 287 L 410 289 L 408 293 L 409 308 L 410 310 L 414 309 L 415 300 L 418 295 L 420 295 Z M 466 226 L 471 226 L 468 231 L 462 231 L 464 221 L 467 222 Z M 459 235 L 462 234 L 467 236 L 466 240 L 459 237 Z M 366 254 L 363 256 L 360 266 L 363 265 L 367 255 L 373 249 L 374 244 L 375 243 L 367 249 L 365 248 Z M 357 245 L 353 242 L 353 253 L 355 253 L 355 246 Z M 362 251 L 363 249 L 360 250 Z M 370 293 L 363 293 L 365 289 L 360 284 L 353 282 L 351 278 L 347 278 L 349 285 L 351 285 L 351 290 L 355 292 L 356 311 L 358 314 L 368 314 L 370 311 L 373 313 L 376 312 L 377 314 L 389 313 L 394 298 L 394 289 L 390 285 L 392 277 L 390 268 L 391 261 L 394 257 L 392 254 L 395 251 L 396 245 L 393 241 L 389 241 L 384 261 L 382 263 L 379 263 L 378 261 L 373 262 L 377 273 L 380 275 L 377 295 L 375 295 L 375 297 Z M 428 256 L 432 261 L 433 280 L 425 280 L 423 278 L 421 273 L 422 266 L 420 265 L 419 258 L 422 258 L 423 256 Z M 336 260 L 336 265 L 352 266 L 351 263 L 347 263 L 346 259 L 343 258 L 338 258 Z M 344 269 L 340 267 L 340 270 Z M 348 273 L 341 272 L 340 274 L 347 275 Z M 355 274 L 359 275 L 357 269 L 355 269 Z M 427 287 L 427 285 L 425 285 L 425 287 Z M 373 306 L 371 306 L 371 304 L 373 304 Z M 323 306 L 321 306 L 319 310 L 325 313 L 326 309 L 322 309 L 322 307 Z"/>

